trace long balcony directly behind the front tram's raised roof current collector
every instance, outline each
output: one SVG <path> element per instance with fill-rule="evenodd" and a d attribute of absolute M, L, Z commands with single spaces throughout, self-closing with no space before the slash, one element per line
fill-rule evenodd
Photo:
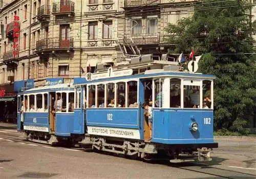
<path fill-rule="evenodd" d="M 128 44 L 134 45 L 148 45 L 148 44 L 159 44 L 160 43 L 160 35 L 159 33 L 154 34 L 131 34 L 124 36 L 124 40 Z"/>

